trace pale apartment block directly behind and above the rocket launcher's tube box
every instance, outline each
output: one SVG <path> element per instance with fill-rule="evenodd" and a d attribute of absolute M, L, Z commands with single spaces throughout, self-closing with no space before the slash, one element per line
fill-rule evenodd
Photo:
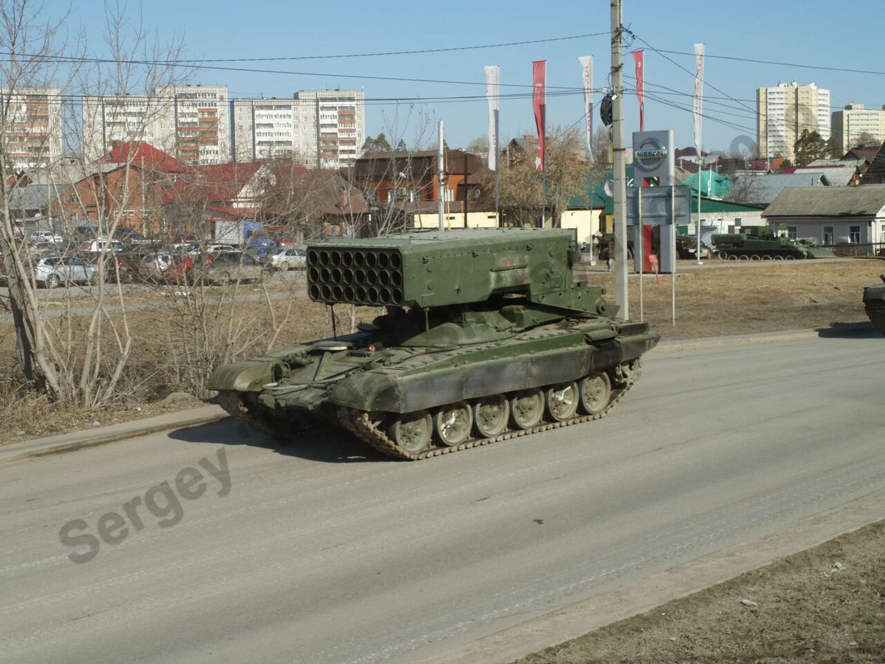
<path fill-rule="evenodd" d="M 231 103 L 238 160 L 295 154 L 304 166 L 352 165 L 366 141 L 365 96 L 356 90 L 299 90 L 291 99 Z"/>

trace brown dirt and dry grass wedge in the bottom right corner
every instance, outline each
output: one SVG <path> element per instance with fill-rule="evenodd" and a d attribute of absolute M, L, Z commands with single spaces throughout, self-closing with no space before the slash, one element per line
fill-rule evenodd
<path fill-rule="evenodd" d="M 885 521 L 518 664 L 885 661 Z"/>

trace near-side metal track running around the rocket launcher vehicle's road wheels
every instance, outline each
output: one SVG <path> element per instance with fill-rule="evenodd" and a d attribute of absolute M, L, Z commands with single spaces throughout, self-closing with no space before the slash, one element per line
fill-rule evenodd
<path fill-rule="evenodd" d="M 570 427 L 573 424 L 581 424 L 583 422 L 589 422 L 591 420 L 601 420 L 605 417 L 605 415 L 612 411 L 612 408 L 614 408 L 615 405 L 618 405 L 618 402 L 620 402 L 620 400 L 624 398 L 628 391 L 633 389 L 636 381 L 638 381 L 639 377 L 642 375 L 642 360 L 635 359 L 632 364 L 633 367 L 630 367 L 628 369 L 624 368 L 624 365 L 619 365 L 618 367 L 615 367 L 616 373 L 620 375 L 620 379 L 623 382 L 620 387 L 616 388 L 612 386 L 612 398 L 609 400 L 609 405 L 606 406 L 605 410 L 602 413 L 597 413 L 596 415 L 581 415 L 578 417 L 573 417 L 571 420 L 566 421 L 543 422 L 543 424 L 539 424 L 538 426 L 532 427 L 531 429 L 512 429 L 491 438 L 471 438 L 470 440 L 467 440 L 466 442 L 459 445 L 453 445 L 451 447 L 431 447 L 424 452 L 419 452 L 418 454 L 408 452 L 396 443 L 394 443 L 394 441 L 392 441 L 389 436 L 384 433 L 384 431 L 381 431 L 381 429 L 378 429 L 372 423 L 369 417 L 370 413 L 341 406 L 338 410 L 338 419 L 339 424 L 342 426 L 343 429 L 348 429 L 361 441 L 372 447 L 373 450 L 381 452 L 381 454 L 389 457 L 395 457 L 396 459 L 406 459 L 410 461 L 429 459 L 431 457 L 442 456 L 443 454 L 451 454 L 452 452 L 469 450 L 472 447 L 479 447 L 481 445 L 497 443 L 502 440 L 519 438 L 519 436 L 528 436 L 529 434 L 536 434 L 542 431 L 550 431 L 551 429 L 561 429 L 562 427 Z"/>

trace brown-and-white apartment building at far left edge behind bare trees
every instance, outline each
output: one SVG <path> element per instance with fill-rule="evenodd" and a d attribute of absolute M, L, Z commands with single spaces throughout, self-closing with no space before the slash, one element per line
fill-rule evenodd
<path fill-rule="evenodd" d="M 0 89 L 0 149 L 16 171 L 61 158 L 61 97 L 56 88 Z"/>

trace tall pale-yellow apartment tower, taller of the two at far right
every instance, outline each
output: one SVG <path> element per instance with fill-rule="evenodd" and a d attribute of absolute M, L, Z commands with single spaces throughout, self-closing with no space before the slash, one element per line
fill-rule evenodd
<path fill-rule="evenodd" d="M 830 91 L 814 83 L 778 83 L 756 91 L 757 143 L 761 157 L 795 157 L 802 131 L 830 137 Z"/>

